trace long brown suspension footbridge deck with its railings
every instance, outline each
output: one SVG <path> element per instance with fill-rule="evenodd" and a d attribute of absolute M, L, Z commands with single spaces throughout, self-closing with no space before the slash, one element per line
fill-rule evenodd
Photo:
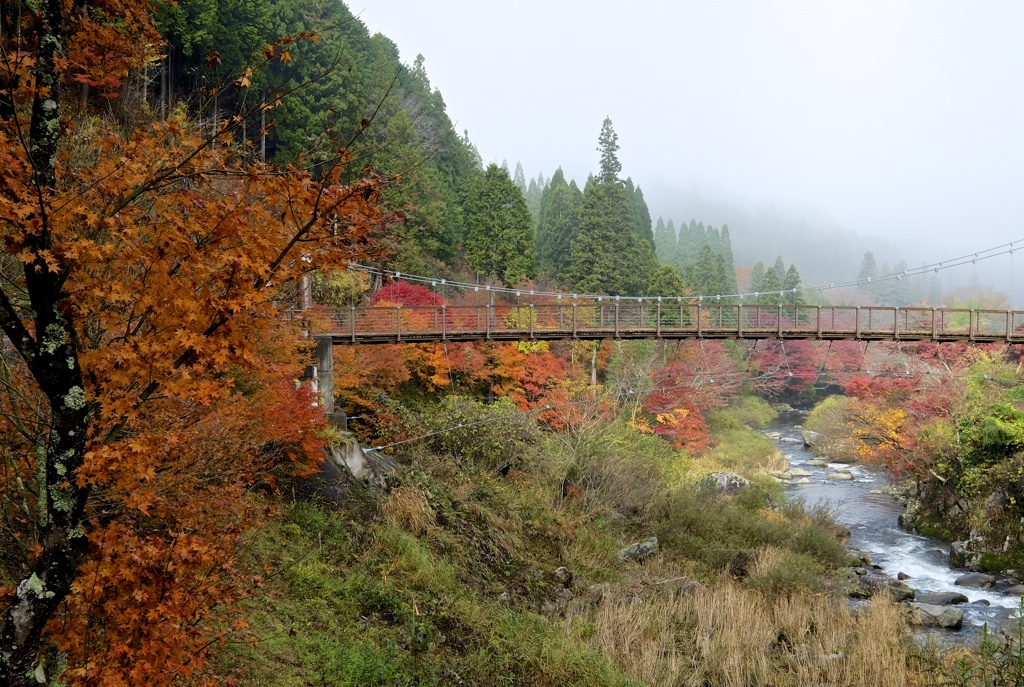
<path fill-rule="evenodd" d="M 1024 311 L 623 301 L 326 311 L 338 344 L 557 339 L 813 339 L 1024 343 Z"/>

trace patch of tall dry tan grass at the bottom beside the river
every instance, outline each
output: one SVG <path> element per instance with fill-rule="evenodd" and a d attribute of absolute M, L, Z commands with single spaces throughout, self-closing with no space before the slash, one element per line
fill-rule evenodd
<path fill-rule="evenodd" d="M 755 563 L 776 565 L 778 551 Z M 665 570 L 663 572 L 668 572 Z M 702 687 L 904 687 L 908 645 L 900 609 L 876 601 L 853 613 L 830 595 L 766 596 L 722 578 L 707 589 L 648 585 L 605 594 L 567 616 L 585 638 L 634 679 Z"/>

